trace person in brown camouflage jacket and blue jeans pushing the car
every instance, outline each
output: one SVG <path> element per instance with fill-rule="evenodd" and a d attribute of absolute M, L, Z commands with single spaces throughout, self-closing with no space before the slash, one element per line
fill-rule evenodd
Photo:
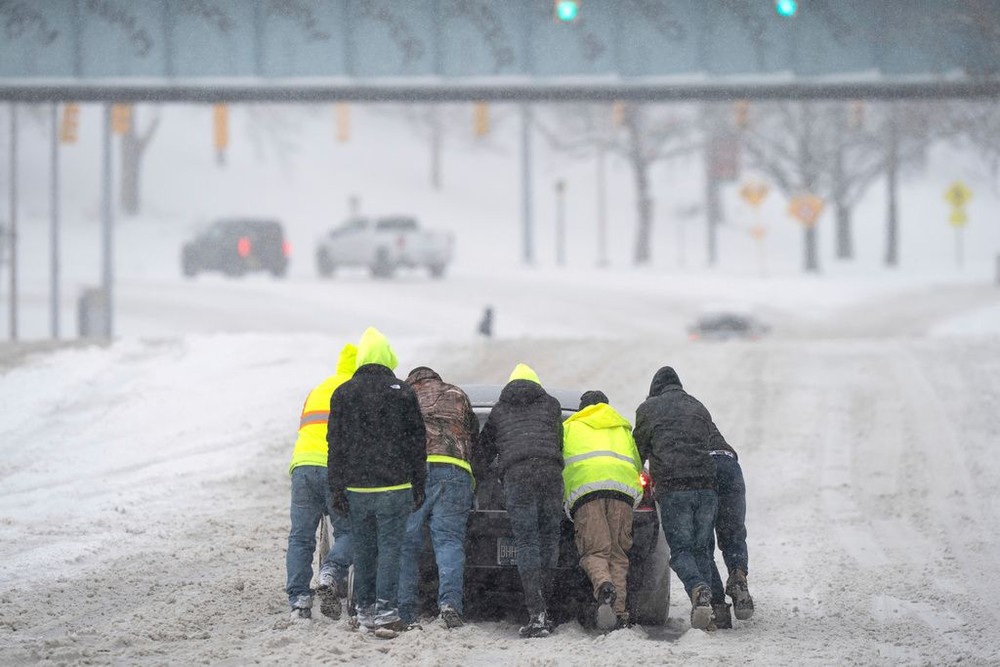
<path fill-rule="evenodd" d="M 399 573 L 399 615 L 407 625 L 419 611 L 417 587 L 424 526 L 430 524 L 438 569 L 438 610 L 449 628 L 463 624 L 465 528 L 472 510 L 472 448 L 479 419 L 469 397 L 433 369 L 419 366 L 406 381 L 417 394 L 427 429 L 427 497 L 406 523 Z"/>

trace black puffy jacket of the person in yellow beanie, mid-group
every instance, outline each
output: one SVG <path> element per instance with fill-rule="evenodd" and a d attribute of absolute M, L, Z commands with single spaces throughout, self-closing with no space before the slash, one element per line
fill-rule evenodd
<path fill-rule="evenodd" d="M 478 454 L 488 464 L 499 456 L 500 479 L 525 464 L 562 469 L 562 409 L 537 382 L 511 380 L 486 418 Z M 560 489 L 560 493 L 562 490 Z"/>

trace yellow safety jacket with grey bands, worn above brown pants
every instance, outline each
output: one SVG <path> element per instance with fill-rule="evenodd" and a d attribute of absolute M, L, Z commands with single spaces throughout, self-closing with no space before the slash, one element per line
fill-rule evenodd
<path fill-rule="evenodd" d="M 642 498 L 642 462 L 632 425 L 607 403 L 588 405 L 563 422 L 563 500 L 569 514 L 594 491 Z"/>

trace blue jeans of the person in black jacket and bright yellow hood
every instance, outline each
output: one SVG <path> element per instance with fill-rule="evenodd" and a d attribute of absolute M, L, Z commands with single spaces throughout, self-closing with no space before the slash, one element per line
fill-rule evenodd
<path fill-rule="evenodd" d="M 413 490 L 348 491 L 354 533 L 354 599 L 359 611 L 374 607 L 376 623 L 398 619 L 399 556 Z"/>

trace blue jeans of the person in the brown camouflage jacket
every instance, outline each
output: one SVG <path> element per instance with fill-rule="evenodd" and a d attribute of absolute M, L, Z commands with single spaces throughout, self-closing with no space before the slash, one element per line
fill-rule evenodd
<path fill-rule="evenodd" d="M 465 529 L 472 509 L 472 475 L 450 463 L 427 466 L 427 498 L 406 521 L 399 566 L 399 616 L 417 620 L 420 609 L 418 578 L 424 549 L 424 525 L 430 521 L 431 546 L 438 568 L 438 607 L 449 605 L 463 613 L 465 581 Z"/>

